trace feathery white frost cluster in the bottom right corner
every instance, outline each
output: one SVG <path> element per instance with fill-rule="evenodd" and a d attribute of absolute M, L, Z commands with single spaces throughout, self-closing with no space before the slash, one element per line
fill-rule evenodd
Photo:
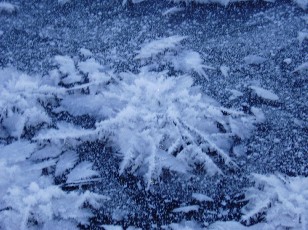
<path fill-rule="evenodd" d="M 308 229 L 308 178 L 253 174 L 242 221 L 265 213 L 266 229 Z M 264 228 L 265 229 L 265 228 Z"/>

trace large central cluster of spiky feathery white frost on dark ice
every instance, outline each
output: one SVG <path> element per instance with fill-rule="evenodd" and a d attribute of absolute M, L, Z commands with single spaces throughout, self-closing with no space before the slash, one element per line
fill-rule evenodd
<path fill-rule="evenodd" d="M 199 53 L 173 53 L 183 39 L 172 36 L 145 44 L 136 59 L 160 55 L 161 62 L 177 59 L 180 72 L 192 68 L 205 75 Z M 93 58 L 75 64 L 70 57 L 56 56 L 55 61 L 59 70 L 53 74 L 69 93 L 54 112 L 88 114 L 96 124 L 83 129 L 58 123 L 56 129 L 39 132 L 35 140 L 108 138 L 121 156 L 120 174 L 141 176 L 148 188 L 164 169 L 185 174 L 201 165 L 214 175 L 223 173 L 217 165 L 221 160 L 236 167 L 229 157 L 234 140 L 249 137 L 257 123 L 254 116 L 202 95 L 188 75 L 168 76 L 168 70 L 153 71 L 147 63 L 137 74 L 113 74 L 103 72 Z"/>

